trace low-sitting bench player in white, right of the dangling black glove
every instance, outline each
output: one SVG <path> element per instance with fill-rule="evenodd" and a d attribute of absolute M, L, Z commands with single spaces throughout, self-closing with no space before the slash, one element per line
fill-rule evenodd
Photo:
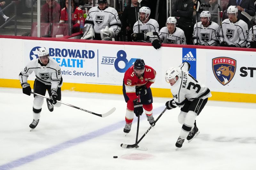
<path fill-rule="evenodd" d="M 166 20 L 166 26 L 159 32 L 162 43 L 165 44 L 187 44 L 184 31 L 176 27 L 175 17 L 169 17 Z"/>

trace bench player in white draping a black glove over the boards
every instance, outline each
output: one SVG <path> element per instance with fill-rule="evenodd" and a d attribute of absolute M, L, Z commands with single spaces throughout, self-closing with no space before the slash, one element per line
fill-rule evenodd
<path fill-rule="evenodd" d="M 159 24 L 155 19 L 149 18 L 150 8 L 143 6 L 140 8 L 140 21 L 135 22 L 133 26 L 133 33 L 131 35 L 132 41 L 151 42 L 152 46 L 156 49 L 161 47 L 161 42 L 158 37 Z M 139 33 L 140 29 L 140 33 Z M 147 36 L 148 32 L 155 33 L 154 35 Z"/>

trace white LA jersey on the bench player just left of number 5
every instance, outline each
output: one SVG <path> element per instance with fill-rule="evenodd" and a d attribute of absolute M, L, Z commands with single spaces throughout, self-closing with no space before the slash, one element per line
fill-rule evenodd
<path fill-rule="evenodd" d="M 196 34 L 198 35 L 198 42 L 208 46 L 217 46 L 219 43 L 220 26 L 210 21 L 209 26 L 204 27 L 202 22 L 197 23 L 198 34 L 196 33 L 196 24 L 194 25 L 193 42 L 196 44 Z"/>

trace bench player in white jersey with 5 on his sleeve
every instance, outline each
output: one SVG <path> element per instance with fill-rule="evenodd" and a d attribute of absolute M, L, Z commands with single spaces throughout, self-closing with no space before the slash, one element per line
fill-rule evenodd
<path fill-rule="evenodd" d="M 227 10 L 228 19 L 222 21 L 223 34 L 220 31 L 220 46 L 222 47 L 245 47 L 248 39 L 247 24 L 237 18 L 236 6 L 229 6 Z"/>

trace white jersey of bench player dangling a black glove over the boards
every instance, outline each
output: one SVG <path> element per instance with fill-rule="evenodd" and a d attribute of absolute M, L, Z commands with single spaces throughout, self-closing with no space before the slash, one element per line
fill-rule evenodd
<path fill-rule="evenodd" d="M 148 19 L 148 22 L 142 23 L 140 20 L 140 33 L 148 33 L 148 32 L 157 32 L 159 33 L 159 24 L 155 19 Z M 138 22 L 135 22 L 133 25 L 133 33 L 138 33 Z M 152 38 L 156 38 L 156 35 L 149 36 L 149 42 L 151 42 Z"/>

